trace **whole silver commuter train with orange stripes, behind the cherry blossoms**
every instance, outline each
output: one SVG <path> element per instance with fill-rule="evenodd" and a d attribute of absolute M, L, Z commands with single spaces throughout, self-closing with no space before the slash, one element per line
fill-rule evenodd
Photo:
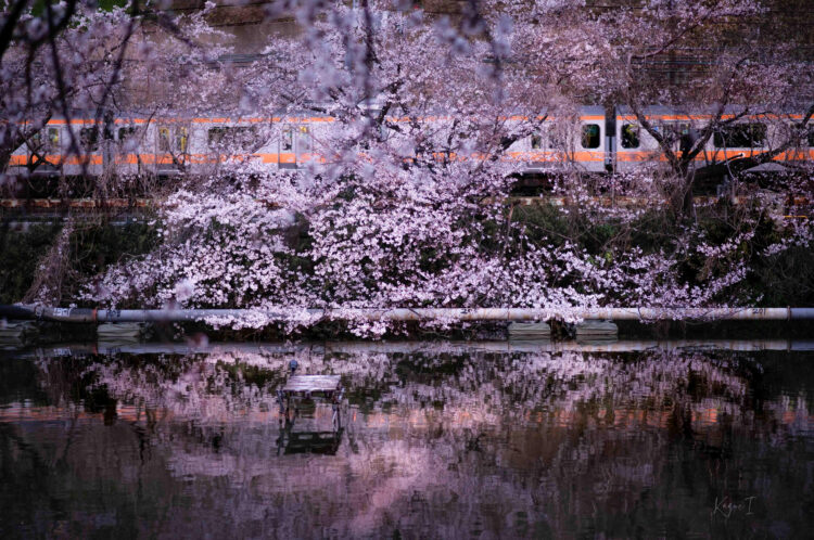
<path fill-rule="evenodd" d="M 677 153 L 691 144 L 713 118 L 709 111 L 666 107 L 648 107 L 645 115 L 654 129 L 670 138 Z M 208 175 L 239 160 L 269 171 L 294 170 L 308 163 L 325 163 L 338 152 L 331 142 L 338 134 L 335 119 L 306 112 L 234 118 L 119 115 L 100 121 L 81 116 L 48 121 L 13 152 L 9 172 L 67 177 Z M 625 107 L 606 115 L 602 107 L 584 106 L 571 115 L 543 113 L 537 119 L 539 129 L 516 141 L 501 156 L 518 175 L 627 172 L 666 162 L 656 139 Z M 771 164 L 754 170 L 814 162 L 814 128 L 800 137 L 796 127 L 802 119 L 800 114 L 740 115 L 730 108 L 723 119 L 734 121 L 710 137 L 695 157 L 694 167 L 725 164 L 778 147 L 784 151 Z M 433 128 L 443 128 L 444 121 L 454 124 L 450 120 L 444 116 L 421 119 L 435 123 Z M 507 121 L 529 118 L 508 117 Z"/>

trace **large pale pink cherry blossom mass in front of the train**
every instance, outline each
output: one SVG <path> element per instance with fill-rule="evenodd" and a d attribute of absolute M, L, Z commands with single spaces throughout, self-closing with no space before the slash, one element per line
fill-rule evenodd
<path fill-rule="evenodd" d="M 756 205 L 727 214 L 713 230 L 676 221 L 656 205 L 670 182 L 682 196 L 691 194 L 690 164 L 716 130 L 766 114 L 758 105 L 791 104 L 793 88 L 807 88 L 791 81 L 804 77 L 783 70 L 779 53 L 760 55 L 758 65 L 753 50 L 724 41 L 715 41 L 722 69 L 704 69 L 691 85 L 660 83 L 645 66 L 692 39 L 723 39 L 713 23 L 760 7 L 484 5 L 430 20 L 387 2 L 282 2 L 270 16 L 292 16 L 300 34 L 269 36 L 264 53 L 240 69 L 218 61 L 229 40 L 201 14 L 143 17 L 139 28 L 149 18 L 164 33 L 137 35 L 138 62 L 122 88 L 141 83 L 152 101 L 111 91 L 120 111 L 268 120 L 245 130 L 247 141 L 208 141 L 201 167 L 179 159 L 177 189 L 155 222 L 162 244 L 90 280 L 81 300 L 257 308 L 255 317 L 209 321 L 236 327 L 264 326 L 272 321 L 263 310 L 275 309 L 287 313 L 288 330 L 315 322 L 303 309 L 319 307 L 546 307 L 568 317 L 572 307 L 598 305 L 759 301 L 748 287 L 751 265 L 807 245 L 810 228 L 773 222 L 777 213 Z M 131 34 L 133 15 L 116 13 L 104 15 L 122 17 L 113 34 Z M 183 61 L 167 53 L 169 40 L 182 46 Z M 798 98 L 796 106 L 804 91 Z M 101 111 L 107 98 L 94 99 Z M 557 189 L 576 204 L 549 221 L 524 217 L 507 202 L 524 172 L 516 156 L 542 124 L 567 123 L 581 105 L 603 100 L 622 100 L 634 112 L 673 176 L 644 166 L 602 178 L 571 171 Z M 676 150 L 672 132 L 649 124 L 653 104 L 714 111 L 695 146 Z M 734 115 L 733 104 L 741 106 Z M 285 131 L 292 117 L 318 126 L 303 131 L 309 157 L 288 169 L 263 164 L 257 149 L 301 137 Z M 588 197 L 608 191 L 645 195 L 653 207 L 606 208 Z M 597 223 L 616 232 L 599 240 Z M 390 330 L 365 321 L 353 327 Z"/>

